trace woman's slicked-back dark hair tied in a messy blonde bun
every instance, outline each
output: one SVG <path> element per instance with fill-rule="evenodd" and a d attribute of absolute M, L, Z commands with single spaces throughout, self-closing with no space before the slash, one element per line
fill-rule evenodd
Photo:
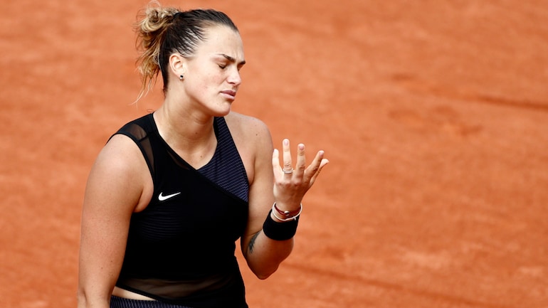
<path fill-rule="evenodd" d="M 179 11 L 172 7 L 162 7 L 158 1 L 151 1 L 140 12 L 135 23 L 136 46 L 140 53 L 137 68 L 142 75 L 137 100 L 154 87 L 159 72 L 162 73 L 165 92 L 169 81 L 169 55 L 180 53 L 184 57 L 191 57 L 198 44 L 206 39 L 206 28 L 215 25 L 228 26 L 238 32 L 231 19 L 220 11 Z"/>

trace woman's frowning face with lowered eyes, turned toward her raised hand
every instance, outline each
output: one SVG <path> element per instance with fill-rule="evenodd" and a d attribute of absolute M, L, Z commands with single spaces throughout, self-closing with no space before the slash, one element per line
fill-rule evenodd
<path fill-rule="evenodd" d="M 191 102 L 216 117 L 227 115 L 241 85 L 240 69 L 245 62 L 238 32 L 226 26 L 207 28 L 206 39 L 186 62 L 183 84 Z"/>

